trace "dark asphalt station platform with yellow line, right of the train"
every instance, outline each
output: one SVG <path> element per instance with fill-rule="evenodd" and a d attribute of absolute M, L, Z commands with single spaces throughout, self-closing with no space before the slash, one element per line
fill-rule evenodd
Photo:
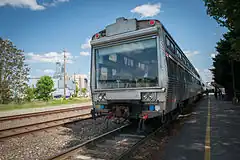
<path fill-rule="evenodd" d="M 154 159 L 240 160 L 240 106 L 205 96 L 160 157 Z"/>

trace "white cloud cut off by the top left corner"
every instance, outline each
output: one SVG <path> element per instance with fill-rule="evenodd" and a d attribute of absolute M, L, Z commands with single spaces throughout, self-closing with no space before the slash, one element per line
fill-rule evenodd
<path fill-rule="evenodd" d="M 13 7 L 30 8 L 31 10 L 43 10 L 44 6 L 39 5 L 37 0 L 1 0 L 0 7 L 10 5 Z"/>

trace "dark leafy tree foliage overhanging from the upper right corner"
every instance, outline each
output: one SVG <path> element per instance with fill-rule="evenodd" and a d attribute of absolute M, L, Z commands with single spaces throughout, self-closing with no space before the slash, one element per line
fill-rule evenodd
<path fill-rule="evenodd" d="M 204 0 L 207 14 L 221 26 L 227 27 L 232 34 L 231 56 L 240 60 L 240 1 L 239 0 Z"/>

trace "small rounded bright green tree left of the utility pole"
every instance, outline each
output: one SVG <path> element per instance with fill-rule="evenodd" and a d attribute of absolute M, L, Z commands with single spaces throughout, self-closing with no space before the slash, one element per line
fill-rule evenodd
<path fill-rule="evenodd" d="M 52 98 L 51 93 L 54 91 L 54 82 L 50 76 L 42 76 L 36 85 L 36 98 L 48 101 Z"/>

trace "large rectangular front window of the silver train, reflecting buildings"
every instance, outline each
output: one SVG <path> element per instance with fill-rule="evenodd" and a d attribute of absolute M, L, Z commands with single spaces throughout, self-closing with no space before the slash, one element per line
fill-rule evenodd
<path fill-rule="evenodd" d="M 98 89 L 158 86 L 156 37 L 95 49 Z"/>

